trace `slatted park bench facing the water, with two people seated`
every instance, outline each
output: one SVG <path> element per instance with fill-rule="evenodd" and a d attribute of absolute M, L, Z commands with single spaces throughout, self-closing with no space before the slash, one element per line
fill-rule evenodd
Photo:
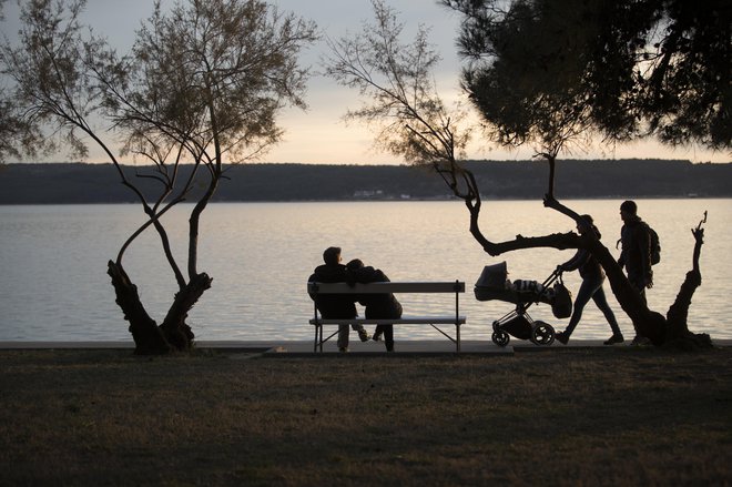
<path fill-rule="evenodd" d="M 321 317 L 317 306 L 313 306 L 313 318 L 311 325 L 315 326 L 315 346 L 314 352 L 323 352 L 323 344 L 337 335 L 337 331 L 323 338 L 324 325 L 430 325 L 437 329 L 450 342 L 455 344 L 456 352 L 460 353 L 460 325 L 465 324 L 466 317 L 460 316 L 459 294 L 465 293 L 465 283 L 454 282 L 395 282 L 395 283 L 369 283 L 355 284 L 350 286 L 346 283 L 307 283 L 307 292 L 311 296 L 318 294 L 406 294 L 406 293 L 454 293 L 455 313 L 430 316 L 403 315 L 400 319 L 386 318 L 324 318 Z M 444 332 L 440 326 L 455 325 L 455 337 Z"/>

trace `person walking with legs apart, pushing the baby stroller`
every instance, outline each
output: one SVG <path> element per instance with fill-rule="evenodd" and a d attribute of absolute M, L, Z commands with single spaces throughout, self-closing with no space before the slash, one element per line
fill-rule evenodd
<path fill-rule="evenodd" d="M 582 215 L 582 221 L 577 224 L 577 231 L 582 235 L 588 232 L 594 232 L 598 239 L 600 239 L 600 231 L 594 226 L 590 215 Z M 588 250 L 578 248 L 575 256 L 559 265 L 557 270 L 561 272 L 578 270 L 582 277 L 582 284 L 580 284 L 577 298 L 575 300 L 575 308 L 572 310 L 572 316 L 569 318 L 569 325 L 567 326 L 567 329 L 556 335 L 557 339 L 565 345 L 569 342 L 569 337 L 582 317 L 584 306 L 589 303 L 590 298 L 592 298 L 612 329 L 612 336 L 608 338 L 604 344 L 612 345 L 616 343 L 622 343 L 624 338 L 618 326 L 616 315 L 612 313 L 610 305 L 608 305 L 608 300 L 602 290 L 604 272 L 598 260 L 594 258 Z"/>

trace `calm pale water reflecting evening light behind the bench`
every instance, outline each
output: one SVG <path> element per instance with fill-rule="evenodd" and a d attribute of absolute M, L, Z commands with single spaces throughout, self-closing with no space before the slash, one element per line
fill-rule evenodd
<path fill-rule="evenodd" d="M 614 247 L 620 231 L 620 201 L 571 201 L 594 216 L 603 242 Z M 665 313 L 691 266 L 690 229 L 705 210 L 703 283 L 690 313 L 690 328 L 714 338 L 732 338 L 732 200 L 639 201 L 639 213 L 660 234 L 662 262 L 649 291 L 652 308 Z M 167 216 L 174 248 L 185 253 L 190 206 Z M 136 205 L 0 206 L 0 341 L 131 339 L 106 275 L 126 235 L 143 220 Z M 573 222 L 543 209 L 541 202 L 486 202 L 484 232 L 494 241 L 522 234 L 542 235 L 573 229 Z M 204 213 L 200 271 L 213 287 L 193 310 L 190 323 L 199 339 L 307 339 L 312 301 L 305 281 L 321 264 L 325 247 L 338 245 L 344 260 L 359 257 L 393 281 L 467 283 L 461 307 L 468 316 L 465 339 L 490 339 L 490 323 L 512 305 L 478 302 L 472 284 L 484 265 L 506 260 L 509 277 L 542 281 L 573 251 L 531 250 L 501 257 L 485 254 L 468 233 L 460 202 L 241 203 L 216 204 Z M 125 268 L 143 302 L 161 322 L 175 292 L 157 240 L 150 234 L 128 252 Z M 181 261 L 185 267 L 185 262 Z M 576 293 L 577 273 L 566 274 Z M 606 284 L 606 291 L 609 286 Z M 399 296 L 405 313 L 449 310 L 450 296 Z M 620 326 L 630 321 L 611 297 Z M 547 305 L 530 310 L 560 329 Z M 593 304 L 586 308 L 575 336 L 606 338 L 610 329 Z M 404 327 L 397 339 L 438 338 L 425 327 Z"/>

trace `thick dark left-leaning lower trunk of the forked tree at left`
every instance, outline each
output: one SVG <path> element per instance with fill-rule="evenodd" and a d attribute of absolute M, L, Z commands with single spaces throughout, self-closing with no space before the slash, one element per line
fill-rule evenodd
<path fill-rule="evenodd" d="M 138 286 L 132 284 L 122 265 L 110 261 L 106 273 L 112 277 L 116 304 L 122 308 L 124 319 L 130 323 L 130 333 L 135 343 L 135 354 L 166 354 L 171 346 L 153 318 L 150 317 L 138 294 Z"/>

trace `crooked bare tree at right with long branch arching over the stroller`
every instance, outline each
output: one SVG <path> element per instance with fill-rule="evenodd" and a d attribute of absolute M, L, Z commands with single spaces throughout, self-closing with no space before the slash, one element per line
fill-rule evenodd
<path fill-rule="evenodd" d="M 373 0 L 373 6 L 374 24 L 365 26 L 364 31 L 355 37 L 332 42 L 332 54 L 325 59 L 331 77 L 344 85 L 358 88 L 362 97 L 368 100 L 360 110 L 352 111 L 347 116 L 377 124 L 380 145 L 417 165 L 431 166 L 453 193 L 465 202 L 470 214 L 470 233 L 488 254 L 496 256 L 531 247 L 588 248 L 606 270 L 613 293 L 641 335 L 657 345 L 680 341 L 709 345 L 709 336 L 691 334 L 685 322 L 691 295 L 701 283 L 701 223 L 693 231 L 697 242 L 693 268 L 668 317 L 647 307 L 610 251 L 594 235 L 590 235 L 591 232 L 588 235 L 517 235 L 506 242 L 492 242 L 485 235 L 480 227 L 482 202 L 479 187 L 456 153 L 456 149 L 464 148 L 467 135 L 458 131 L 454 123 L 456 118 L 447 113 L 430 80 L 429 70 L 437 55 L 427 47 L 426 31 L 420 29 L 414 43 L 401 44 L 399 34 L 403 24 L 397 21 L 394 11 L 380 0 Z M 545 204 L 579 222 L 581 216 L 553 195 L 553 162 L 565 144 L 586 136 L 590 121 L 581 110 L 562 109 L 567 106 L 562 100 L 552 103 L 558 112 L 546 121 L 545 126 L 551 135 L 542 139 L 546 148 L 542 154 L 551 168 Z"/>

